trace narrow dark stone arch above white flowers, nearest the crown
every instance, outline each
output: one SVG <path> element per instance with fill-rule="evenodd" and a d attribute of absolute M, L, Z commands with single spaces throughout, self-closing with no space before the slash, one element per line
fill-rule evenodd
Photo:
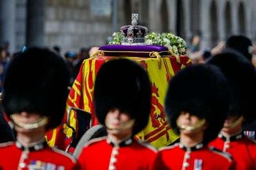
<path fill-rule="evenodd" d="M 168 6 L 166 0 L 163 0 L 160 6 L 161 11 L 161 32 L 168 32 Z"/>

